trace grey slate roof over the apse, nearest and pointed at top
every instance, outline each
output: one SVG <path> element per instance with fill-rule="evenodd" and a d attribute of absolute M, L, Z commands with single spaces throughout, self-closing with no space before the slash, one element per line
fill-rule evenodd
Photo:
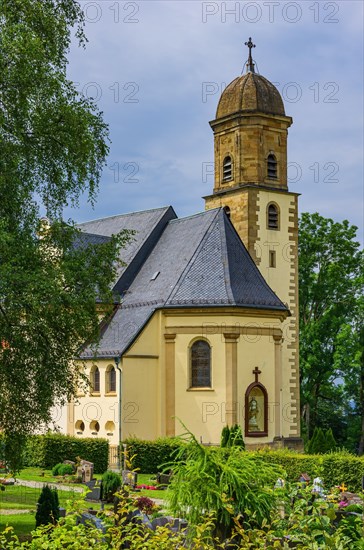
<path fill-rule="evenodd" d="M 240 306 L 287 312 L 224 210 L 169 220 L 101 335 L 83 358 L 122 355 L 160 308 Z"/>

